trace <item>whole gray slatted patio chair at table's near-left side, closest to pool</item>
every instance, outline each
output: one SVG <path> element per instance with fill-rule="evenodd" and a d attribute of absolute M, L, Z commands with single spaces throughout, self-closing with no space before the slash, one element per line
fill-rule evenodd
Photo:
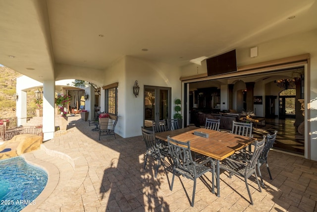
<path fill-rule="evenodd" d="M 201 177 L 203 174 L 207 172 L 212 173 L 212 188 L 213 185 L 213 178 L 214 178 L 214 170 L 211 168 L 203 165 L 198 164 L 195 161 L 193 161 L 191 150 L 190 150 L 190 142 L 182 142 L 182 141 L 176 141 L 169 136 L 167 137 L 168 142 L 168 148 L 171 153 L 172 159 L 173 159 L 173 178 L 170 186 L 170 190 L 173 190 L 173 183 L 175 174 L 181 174 L 185 176 L 188 179 L 191 179 L 194 181 L 194 188 L 193 188 L 193 197 L 191 206 L 194 207 L 194 201 L 195 201 L 195 191 L 196 191 L 196 180 L 197 178 Z"/>

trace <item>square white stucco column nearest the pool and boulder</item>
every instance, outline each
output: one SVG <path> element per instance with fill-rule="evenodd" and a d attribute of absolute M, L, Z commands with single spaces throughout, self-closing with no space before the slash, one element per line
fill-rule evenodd
<path fill-rule="evenodd" d="M 55 81 L 43 82 L 43 134 L 44 141 L 54 138 L 55 132 Z"/>

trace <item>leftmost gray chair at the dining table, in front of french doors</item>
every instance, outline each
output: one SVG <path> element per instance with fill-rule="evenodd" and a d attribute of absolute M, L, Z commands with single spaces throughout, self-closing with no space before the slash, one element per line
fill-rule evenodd
<path fill-rule="evenodd" d="M 142 130 L 142 136 L 143 136 L 143 141 L 146 144 L 147 150 L 145 152 L 145 158 L 144 158 L 144 164 L 143 164 L 143 169 L 146 168 L 147 165 L 147 159 L 148 157 L 152 157 L 155 160 L 158 160 L 158 165 L 157 168 L 155 169 L 155 178 L 158 175 L 159 171 L 159 166 L 161 165 L 161 160 L 164 160 L 164 155 L 162 155 L 159 149 L 159 143 L 157 142 L 155 138 L 155 132 L 151 130 L 146 130 L 143 127 L 141 127 Z"/>

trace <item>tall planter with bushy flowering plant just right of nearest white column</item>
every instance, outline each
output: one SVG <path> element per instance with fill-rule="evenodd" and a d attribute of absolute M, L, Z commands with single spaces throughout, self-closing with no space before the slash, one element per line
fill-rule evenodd
<path fill-rule="evenodd" d="M 60 112 L 59 130 L 66 130 L 68 125 L 68 117 L 65 108 L 71 101 L 71 96 L 58 94 L 55 98 L 55 104 L 58 106 Z"/>

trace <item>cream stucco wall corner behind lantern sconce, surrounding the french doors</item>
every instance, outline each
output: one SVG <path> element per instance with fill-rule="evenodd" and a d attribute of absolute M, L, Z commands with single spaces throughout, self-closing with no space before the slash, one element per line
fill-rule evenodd
<path fill-rule="evenodd" d="M 174 99 L 181 98 L 181 82 L 179 80 L 178 67 L 125 56 L 106 71 L 106 84 L 119 82 L 119 120 L 116 126 L 116 133 L 123 138 L 141 135 L 144 85 L 171 87 L 172 108 L 174 108 Z M 140 86 L 138 97 L 135 97 L 133 94 L 135 80 L 138 80 Z M 173 114 L 174 111 L 172 110 Z"/>

